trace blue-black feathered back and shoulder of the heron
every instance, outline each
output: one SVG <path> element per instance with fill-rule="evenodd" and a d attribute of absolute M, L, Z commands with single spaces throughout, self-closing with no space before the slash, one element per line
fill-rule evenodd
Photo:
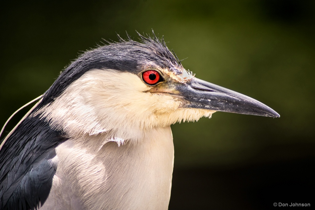
<path fill-rule="evenodd" d="M 0 209 L 34 209 L 45 202 L 56 171 L 49 159 L 65 140 L 44 119 L 21 122 L 0 150 Z"/>

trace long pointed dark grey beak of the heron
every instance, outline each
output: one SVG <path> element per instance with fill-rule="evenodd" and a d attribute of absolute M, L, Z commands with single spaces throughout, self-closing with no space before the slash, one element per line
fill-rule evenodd
<path fill-rule="evenodd" d="M 183 97 L 183 108 L 280 117 L 272 108 L 253 98 L 197 78 L 176 89 Z"/>

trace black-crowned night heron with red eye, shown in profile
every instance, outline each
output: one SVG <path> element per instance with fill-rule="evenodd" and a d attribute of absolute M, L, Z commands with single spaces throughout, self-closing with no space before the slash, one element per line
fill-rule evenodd
<path fill-rule="evenodd" d="M 170 125 L 215 111 L 279 117 L 199 80 L 163 40 L 85 52 L 4 139 L 0 209 L 167 209 Z"/>

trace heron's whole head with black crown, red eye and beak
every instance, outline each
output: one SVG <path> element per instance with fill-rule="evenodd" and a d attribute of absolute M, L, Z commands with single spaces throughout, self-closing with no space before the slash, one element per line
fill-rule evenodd
<path fill-rule="evenodd" d="M 127 136 L 216 111 L 279 117 L 255 99 L 197 79 L 163 39 L 140 39 L 85 52 L 44 94 L 37 113 L 70 135 L 129 130 Z"/>

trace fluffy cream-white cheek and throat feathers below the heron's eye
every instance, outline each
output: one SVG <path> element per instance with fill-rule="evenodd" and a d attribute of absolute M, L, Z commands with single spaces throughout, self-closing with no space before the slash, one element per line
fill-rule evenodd
<path fill-rule="evenodd" d="M 186 71 L 185 71 L 186 72 Z M 189 73 L 183 76 L 192 76 Z M 141 139 L 143 131 L 180 121 L 194 121 L 214 111 L 180 108 L 181 102 L 169 95 L 145 92 L 151 87 L 128 72 L 93 69 L 74 81 L 37 113 L 54 129 L 69 136 L 115 134 L 115 137 Z M 139 132 L 140 131 L 140 132 Z"/>

